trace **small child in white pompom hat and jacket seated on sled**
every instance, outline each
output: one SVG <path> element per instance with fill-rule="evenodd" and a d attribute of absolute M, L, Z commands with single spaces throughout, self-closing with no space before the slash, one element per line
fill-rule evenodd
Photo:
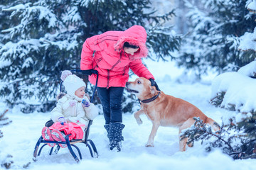
<path fill-rule="evenodd" d="M 61 77 L 67 94 L 58 95 L 58 103 L 51 111 L 51 119 L 54 124 L 49 128 L 44 127 L 42 137 L 44 140 L 65 141 L 65 135 L 69 135 L 69 140 L 84 139 L 84 130 L 87 128 L 89 120 L 93 120 L 97 115 L 97 108 L 90 103 L 85 94 L 85 82 L 79 77 L 65 70 Z M 65 134 L 64 134 L 65 133 Z M 50 147 L 55 144 L 48 143 Z M 67 147 L 60 144 L 60 147 Z"/>

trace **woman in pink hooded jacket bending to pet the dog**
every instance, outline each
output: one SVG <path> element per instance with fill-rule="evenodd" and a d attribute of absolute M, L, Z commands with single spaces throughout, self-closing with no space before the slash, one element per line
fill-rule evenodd
<path fill-rule="evenodd" d="M 107 31 L 87 38 L 82 45 L 80 69 L 97 70 L 99 81 L 97 94 L 100 97 L 105 118 L 105 129 L 110 139 L 110 149 L 121 150 L 122 95 L 129 79 L 129 69 L 138 77 L 150 79 L 156 86 L 153 75 L 142 64 L 146 57 L 146 30 L 142 26 L 132 26 L 124 31 Z M 95 85 L 96 74 L 89 76 Z"/>

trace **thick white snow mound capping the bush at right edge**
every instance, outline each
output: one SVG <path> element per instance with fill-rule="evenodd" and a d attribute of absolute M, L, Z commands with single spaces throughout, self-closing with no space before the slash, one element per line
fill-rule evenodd
<path fill-rule="evenodd" d="M 238 72 L 227 72 L 215 77 L 211 88 L 211 103 L 239 113 L 256 111 L 256 62 L 241 67 Z"/>

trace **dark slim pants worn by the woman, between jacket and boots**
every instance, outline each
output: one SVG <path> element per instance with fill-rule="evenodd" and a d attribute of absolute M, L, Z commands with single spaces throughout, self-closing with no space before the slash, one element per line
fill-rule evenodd
<path fill-rule="evenodd" d="M 124 87 L 97 87 L 102 103 L 105 123 L 122 123 L 122 96 Z"/>

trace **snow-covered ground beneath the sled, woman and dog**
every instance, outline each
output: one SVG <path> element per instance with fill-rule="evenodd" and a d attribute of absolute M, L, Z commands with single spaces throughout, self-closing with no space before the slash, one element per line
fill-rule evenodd
<path fill-rule="evenodd" d="M 191 83 L 191 78 L 183 77 L 183 70 L 177 69 L 172 62 L 151 62 L 146 60 L 149 70 L 154 74 L 161 91 L 193 103 L 203 113 L 221 124 L 223 119 L 228 119 L 235 112 L 211 106 L 210 79 L 207 77 L 201 82 Z M 191 76 L 192 77 L 192 76 Z M 136 77 L 132 77 L 131 80 Z M 183 79 L 177 83 L 176 79 Z M 139 103 L 138 103 L 139 106 Z M 0 105 L 3 108 L 4 105 Z M 3 109 L 1 109 L 3 110 Z M 142 116 L 143 124 L 137 125 L 133 114 L 124 114 L 123 130 L 124 142 L 122 152 L 110 151 L 107 147 L 107 136 L 103 125 L 103 115 L 98 115 L 90 129 L 90 139 L 95 142 L 99 152 L 98 158 L 91 158 L 85 145 L 78 144 L 82 152 L 82 161 L 77 164 L 71 157 L 68 149 L 60 149 L 56 155 L 49 156 L 50 147 L 46 146 L 33 162 L 33 149 L 41 135 L 41 129 L 50 118 L 50 113 L 23 114 L 14 109 L 7 113 L 13 122 L 1 128 L 4 137 L 0 140 L 0 154 L 11 154 L 14 164 L 11 169 L 22 169 L 29 164 L 28 169 L 255 169 L 255 159 L 233 160 L 222 154 L 219 149 L 205 152 L 203 145 L 196 143 L 186 152 L 178 151 L 178 129 L 160 127 L 154 147 L 145 147 L 151 131 L 151 122 Z M 0 155 L 0 156 L 1 156 Z M 0 160 L 2 161 L 2 160 Z M 3 167 L 0 167 L 0 169 Z"/>

